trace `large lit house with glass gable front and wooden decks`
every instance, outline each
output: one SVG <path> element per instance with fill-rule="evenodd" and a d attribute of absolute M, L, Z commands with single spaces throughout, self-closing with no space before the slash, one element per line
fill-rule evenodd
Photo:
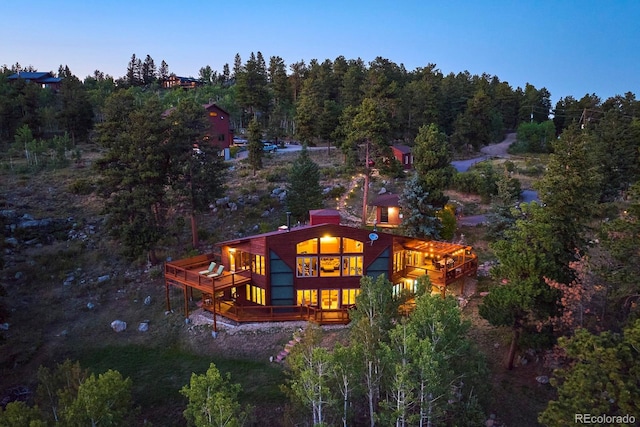
<path fill-rule="evenodd" d="M 196 290 L 203 308 L 237 322 L 347 323 L 363 276 L 385 276 L 399 295 L 414 293 L 417 279 L 428 275 L 433 290 L 444 295 L 454 284 L 464 292 L 467 278 L 476 274 L 478 258 L 470 246 L 322 223 L 322 212 L 311 215 L 314 225 L 218 243 L 219 256 L 167 262 L 167 309 L 175 286 L 183 291 L 185 316 Z M 223 272 L 202 274 L 212 261 Z"/>

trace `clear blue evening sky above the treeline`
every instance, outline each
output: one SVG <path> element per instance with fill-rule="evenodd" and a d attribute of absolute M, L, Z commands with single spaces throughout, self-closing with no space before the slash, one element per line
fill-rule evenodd
<path fill-rule="evenodd" d="M 251 52 L 304 60 L 377 56 L 407 70 L 487 73 L 546 87 L 555 102 L 595 93 L 640 97 L 640 1 L 7 0 L 0 64 L 81 79 L 126 73 L 135 53 L 170 72 L 221 71 Z"/>

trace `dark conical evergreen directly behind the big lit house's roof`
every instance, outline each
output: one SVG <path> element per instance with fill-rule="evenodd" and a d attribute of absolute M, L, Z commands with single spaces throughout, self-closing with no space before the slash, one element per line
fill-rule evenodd
<path fill-rule="evenodd" d="M 303 222 L 309 219 L 309 210 L 322 207 L 320 168 L 309 157 L 306 145 L 291 165 L 286 203 L 293 218 Z"/>

